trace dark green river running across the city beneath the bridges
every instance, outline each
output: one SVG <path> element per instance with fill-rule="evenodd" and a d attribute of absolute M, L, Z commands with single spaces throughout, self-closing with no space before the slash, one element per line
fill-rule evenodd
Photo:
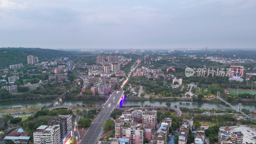
<path fill-rule="evenodd" d="M 38 106 L 45 106 L 50 104 L 54 99 L 36 99 L 36 100 L 12 100 L 12 101 L 4 101 L 0 102 L 0 107 L 12 107 L 13 105 L 22 105 L 24 108 L 26 105 L 36 105 Z M 124 100 L 123 106 L 131 106 L 131 105 L 153 105 L 153 106 L 166 106 L 165 102 L 167 100 Z M 186 108 L 217 108 L 225 110 L 226 108 L 231 108 L 224 102 L 221 103 L 213 103 L 213 102 L 192 102 L 192 101 L 168 101 L 171 103 L 171 107 L 177 105 L 178 108 L 186 107 Z M 74 104 L 93 104 L 95 106 L 100 106 L 101 104 L 105 103 L 105 100 L 77 100 L 77 99 L 62 99 L 62 105 L 74 105 Z M 250 111 L 256 111 L 256 102 L 244 102 L 241 101 L 242 108 L 249 109 Z M 238 102 L 232 103 L 235 107 L 238 108 Z"/>

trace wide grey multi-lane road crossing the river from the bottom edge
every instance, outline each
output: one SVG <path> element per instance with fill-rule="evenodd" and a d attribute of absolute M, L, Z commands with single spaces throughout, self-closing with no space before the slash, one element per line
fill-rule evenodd
<path fill-rule="evenodd" d="M 118 91 L 120 91 L 120 93 Z M 90 126 L 90 128 L 88 129 L 84 137 L 82 138 L 80 144 L 97 143 L 98 136 L 101 131 L 101 127 L 106 122 L 106 120 L 109 119 L 110 113 L 117 105 L 117 102 L 122 96 L 122 93 L 123 93 L 123 89 L 119 88 L 116 92 L 112 94 L 106 106 L 103 107 L 100 114 L 96 117 L 96 119 L 93 121 L 92 125 Z"/>

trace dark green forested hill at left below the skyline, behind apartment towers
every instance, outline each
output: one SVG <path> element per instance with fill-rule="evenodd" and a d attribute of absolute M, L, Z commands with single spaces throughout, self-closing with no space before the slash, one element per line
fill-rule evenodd
<path fill-rule="evenodd" d="M 52 59 L 56 57 L 69 57 L 74 54 L 69 51 L 59 51 L 41 48 L 0 48 L 0 69 L 9 68 L 9 65 L 27 63 L 27 56 L 34 55 L 38 59 Z"/>

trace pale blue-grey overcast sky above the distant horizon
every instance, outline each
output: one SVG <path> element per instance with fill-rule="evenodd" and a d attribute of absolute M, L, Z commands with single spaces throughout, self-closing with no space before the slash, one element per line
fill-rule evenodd
<path fill-rule="evenodd" d="M 0 0 L 0 47 L 256 48 L 255 0 Z"/>

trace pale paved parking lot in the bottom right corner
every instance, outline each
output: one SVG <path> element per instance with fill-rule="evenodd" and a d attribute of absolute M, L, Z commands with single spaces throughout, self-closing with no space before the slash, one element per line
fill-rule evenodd
<path fill-rule="evenodd" d="M 250 127 L 247 127 L 245 125 L 241 125 L 241 126 L 238 126 L 238 127 L 230 127 L 229 130 L 231 132 L 242 132 L 243 135 L 244 135 L 244 139 L 243 139 L 243 143 L 255 143 L 256 141 L 256 134 L 252 134 L 252 133 L 256 133 L 256 130 L 255 128 L 250 128 Z M 247 130 L 249 130 L 250 132 L 248 132 Z"/>

